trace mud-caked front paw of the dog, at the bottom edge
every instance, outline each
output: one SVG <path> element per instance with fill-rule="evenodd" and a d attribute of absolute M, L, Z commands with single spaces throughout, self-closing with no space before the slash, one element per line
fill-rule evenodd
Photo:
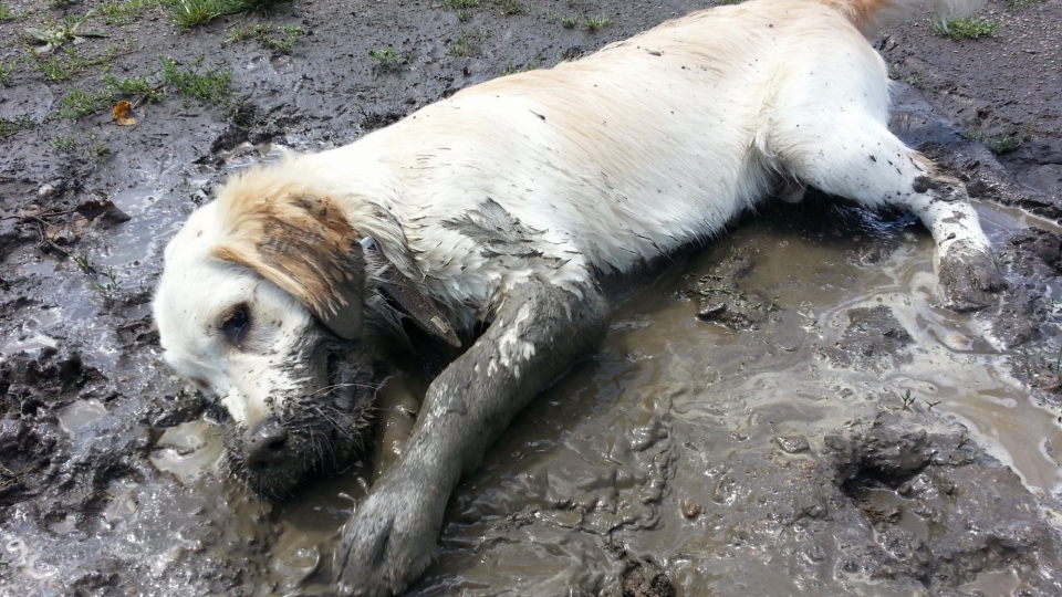
<path fill-rule="evenodd" d="M 378 488 L 343 527 L 335 588 L 344 597 L 387 597 L 405 590 L 431 563 L 442 507 L 433 492 Z"/>

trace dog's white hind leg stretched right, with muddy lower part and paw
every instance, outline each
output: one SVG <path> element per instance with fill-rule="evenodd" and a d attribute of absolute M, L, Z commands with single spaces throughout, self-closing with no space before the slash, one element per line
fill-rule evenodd
<path fill-rule="evenodd" d="M 788 171 L 867 208 L 915 213 L 937 243 L 937 276 L 947 306 L 964 312 L 992 304 L 992 293 L 1004 282 L 962 182 L 938 172 L 931 160 L 871 117 L 842 113 L 818 124 L 773 132 L 773 154 Z"/>

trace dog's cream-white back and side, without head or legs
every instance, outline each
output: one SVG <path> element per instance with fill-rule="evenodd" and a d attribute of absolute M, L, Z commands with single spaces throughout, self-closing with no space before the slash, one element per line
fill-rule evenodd
<path fill-rule="evenodd" d="M 393 195 L 378 200 L 424 231 L 407 237 L 408 273 L 440 281 L 430 290 L 448 304 L 482 308 L 532 272 L 624 271 L 718 233 L 794 161 L 830 150 L 827 138 L 780 135 L 787 127 L 827 130 L 845 114 L 884 126 L 886 67 L 864 32 L 912 3 L 757 0 L 696 12 L 576 62 L 477 85 L 308 159 L 394 174 L 381 185 Z M 472 222 L 440 224 L 455 213 Z M 498 217 L 524 232 L 501 239 L 513 254 L 485 259 L 468 232 L 509 226 Z"/>

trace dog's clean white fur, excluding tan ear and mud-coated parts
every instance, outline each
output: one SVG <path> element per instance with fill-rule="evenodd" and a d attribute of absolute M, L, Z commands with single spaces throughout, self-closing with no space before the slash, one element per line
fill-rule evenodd
<path fill-rule="evenodd" d="M 894 2 L 905 14 L 909 3 Z M 574 292 L 597 272 L 702 242 L 783 179 L 910 209 L 940 254 L 951 243 L 987 249 L 968 205 L 913 193 L 928 166 L 888 133 L 888 103 L 885 63 L 845 17 L 816 0 L 754 0 L 477 85 L 346 147 L 249 176 L 298 180 L 337 201 L 457 327 L 491 318 L 531 276 Z M 488 199 L 541 232 L 537 255 L 485 256 L 444 226 Z M 955 212 L 966 217 L 945 221 Z M 309 371 L 277 365 L 312 318 L 254 273 L 209 258 L 226 233 L 216 216 L 214 205 L 194 213 L 167 249 L 155 313 L 174 369 L 252 426 L 308 383 Z M 261 354 L 219 344 L 219 313 L 240 301 L 279 322 Z M 527 357 L 519 338 L 502 348 L 512 364 Z"/>

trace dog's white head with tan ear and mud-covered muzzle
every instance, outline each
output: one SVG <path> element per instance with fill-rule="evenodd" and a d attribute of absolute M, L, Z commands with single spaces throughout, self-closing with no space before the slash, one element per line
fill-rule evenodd
<path fill-rule="evenodd" d="M 227 413 L 232 470 L 279 494 L 366 442 L 365 260 L 333 199 L 254 178 L 170 241 L 154 312 L 166 362 Z"/>

